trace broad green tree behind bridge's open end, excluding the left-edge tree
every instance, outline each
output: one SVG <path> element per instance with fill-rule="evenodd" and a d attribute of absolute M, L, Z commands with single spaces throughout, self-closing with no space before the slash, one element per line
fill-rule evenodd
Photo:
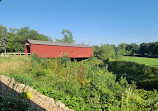
<path fill-rule="evenodd" d="M 30 30 L 29 27 L 23 27 L 21 29 L 10 28 L 8 34 L 8 51 L 10 52 L 23 52 L 24 42 L 27 39 L 52 41 L 50 37 L 39 34 L 36 30 Z"/>

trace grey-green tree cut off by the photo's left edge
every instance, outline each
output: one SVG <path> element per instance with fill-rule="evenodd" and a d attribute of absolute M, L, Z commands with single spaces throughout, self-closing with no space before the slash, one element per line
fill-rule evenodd
<path fill-rule="evenodd" d="M 0 48 L 6 53 L 6 47 L 8 43 L 7 28 L 0 25 Z"/>

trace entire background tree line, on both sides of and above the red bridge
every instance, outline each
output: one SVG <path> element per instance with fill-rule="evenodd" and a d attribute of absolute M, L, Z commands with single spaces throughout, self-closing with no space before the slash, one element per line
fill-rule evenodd
<path fill-rule="evenodd" d="M 73 35 L 69 30 L 62 30 L 62 39 L 55 42 L 74 43 Z M 53 41 L 51 37 L 38 33 L 29 27 L 20 29 L 8 28 L 0 25 L 0 52 L 23 52 L 26 39 Z M 151 43 L 121 43 L 117 47 L 110 44 L 93 46 L 93 55 L 101 60 L 121 59 L 122 55 L 158 56 L 158 41 Z"/>

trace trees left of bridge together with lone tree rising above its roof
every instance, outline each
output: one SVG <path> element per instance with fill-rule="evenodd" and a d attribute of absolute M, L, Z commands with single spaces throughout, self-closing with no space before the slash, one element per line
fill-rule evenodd
<path fill-rule="evenodd" d="M 72 33 L 69 30 L 62 30 L 62 39 L 56 42 L 74 43 Z M 0 53 L 1 52 L 24 52 L 24 42 L 27 39 L 53 41 L 51 37 L 38 33 L 29 27 L 7 28 L 0 25 Z"/>

